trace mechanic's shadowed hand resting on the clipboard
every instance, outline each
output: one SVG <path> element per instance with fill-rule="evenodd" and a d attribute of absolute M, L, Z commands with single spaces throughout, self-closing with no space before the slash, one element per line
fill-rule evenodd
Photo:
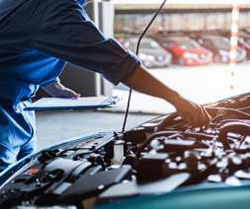
<path fill-rule="evenodd" d="M 52 97 L 79 98 L 81 96 L 75 91 L 66 88 L 58 81 L 42 86 L 41 88 L 45 90 Z"/>

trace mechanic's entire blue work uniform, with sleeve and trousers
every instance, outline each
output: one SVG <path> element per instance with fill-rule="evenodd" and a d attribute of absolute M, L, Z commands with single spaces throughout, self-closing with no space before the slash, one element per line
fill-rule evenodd
<path fill-rule="evenodd" d="M 78 0 L 0 0 L 0 170 L 35 149 L 35 115 L 24 107 L 65 62 L 114 84 L 140 61 L 105 37 Z"/>

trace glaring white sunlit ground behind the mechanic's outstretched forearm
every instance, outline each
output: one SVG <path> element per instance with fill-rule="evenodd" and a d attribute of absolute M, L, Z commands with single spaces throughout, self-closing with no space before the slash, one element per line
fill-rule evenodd
<path fill-rule="evenodd" d="M 184 97 L 197 103 L 215 102 L 233 95 L 249 92 L 250 61 L 237 63 L 235 67 L 228 64 L 209 64 L 204 66 L 178 66 L 151 69 L 149 72 L 161 82 L 177 90 Z M 234 76 L 231 76 L 231 72 Z M 231 89 L 233 84 L 234 88 Z M 124 110 L 127 104 L 128 92 L 124 86 L 117 86 L 114 96 L 122 97 L 113 110 Z M 143 104 L 143 105 L 142 105 Z M 131 112 L 168 113 L 173 106 L 163 100 L 156 99 L 133 91 Z"/>

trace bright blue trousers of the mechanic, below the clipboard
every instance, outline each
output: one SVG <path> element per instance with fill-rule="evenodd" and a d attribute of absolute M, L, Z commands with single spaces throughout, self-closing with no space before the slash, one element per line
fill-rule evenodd
<path fill-rule="evenodd" d="M 36 150 L 35 113 L 24 110 L 27 103 L 0 105 L 0 171 Z"/>

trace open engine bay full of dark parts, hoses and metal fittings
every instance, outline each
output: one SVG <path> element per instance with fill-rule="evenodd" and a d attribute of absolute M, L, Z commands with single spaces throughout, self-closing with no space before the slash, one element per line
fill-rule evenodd
<path fill-rule="evenodd" d="M 206 127 L 172 113 L 28 157 L 2 175 L 0 208 L 91 208 L 178 189 L 250 185 L 250 94 L 207 107 Z"/>

